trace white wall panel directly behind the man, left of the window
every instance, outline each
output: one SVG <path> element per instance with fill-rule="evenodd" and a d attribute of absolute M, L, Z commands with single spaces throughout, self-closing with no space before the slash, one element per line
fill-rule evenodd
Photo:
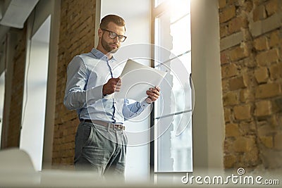
<path fill-rule="evenodd" d="M 144 65 L 151 65 L 151 61 L 137 57 L 151 57 L 151 0 L 103 0 L 100 18 L 107 14 L 121 15 L 125 19 L 128 37 L 121 48 L 114 54 L 117 61 L 128 58 Z M 136 6 L 138 4 L 138 6 Z M 99 19 L 97 19 L 99 20 Z M 99 22 L 97 22 L 99 23 Z M 98 30 L 99 25 L 95 31 Z M 96 39 L 98 41 L 98 39 Z M 149 115 L 147 108 L 142 115 L 126 121 L 125 132 L 128 136 L 126 153 L 125 180 L 126 182 L 145 182 L 149 180 Z"/>

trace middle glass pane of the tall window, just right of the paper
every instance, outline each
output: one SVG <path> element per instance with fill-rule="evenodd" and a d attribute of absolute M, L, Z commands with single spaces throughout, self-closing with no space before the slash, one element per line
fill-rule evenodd
<path fill-rule="evenodd" d="M 192 109 L 190 55 L 190 53 L 185 54 L 157 67 L 168 73 L 160 85 L 161 98 L 156 102 L 156 117 Z"/>

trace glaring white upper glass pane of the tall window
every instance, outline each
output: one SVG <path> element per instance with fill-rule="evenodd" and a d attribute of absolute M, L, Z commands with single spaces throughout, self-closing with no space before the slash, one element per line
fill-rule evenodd
<path fill-rule="evenodd" d="M 171 52 L 178 56 L 191 50 L 190 14 L 171 24 L 171 36 L 173 48 Z"/>

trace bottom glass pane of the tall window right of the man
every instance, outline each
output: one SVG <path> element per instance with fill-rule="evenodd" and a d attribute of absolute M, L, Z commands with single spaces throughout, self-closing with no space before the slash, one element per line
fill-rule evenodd
<path fill-rule="evenodd" d="M 157 120 L 157 172 L 192 172 L 191 117 L 182 113 Z"/>

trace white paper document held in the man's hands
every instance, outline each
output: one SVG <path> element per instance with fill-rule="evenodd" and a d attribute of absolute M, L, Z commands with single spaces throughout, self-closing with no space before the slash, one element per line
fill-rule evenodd
<path fill-rule="evenodd" d="M 131 59 L 121 73 L 121 91 L 112 94 L 115 99 L 133 99 L 142 101 L 147 98 L 150 87 L 159 86 L 166 72 L 137 63 Z"/>

